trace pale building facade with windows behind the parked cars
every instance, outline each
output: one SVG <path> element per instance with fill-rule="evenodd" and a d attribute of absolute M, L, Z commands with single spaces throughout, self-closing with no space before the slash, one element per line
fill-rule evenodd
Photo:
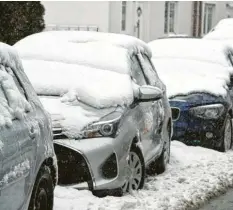
<path fill-rule="evenodd" d="M 44 1 L 47 30 L 123 33 L 151 41 L 167 34 L 202 36 L 233 17 L 227 1 Z"/>

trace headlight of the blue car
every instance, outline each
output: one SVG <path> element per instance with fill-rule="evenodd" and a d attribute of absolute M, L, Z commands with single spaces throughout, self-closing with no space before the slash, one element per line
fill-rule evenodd
<path fill-rule="evenodd" d="M 198 106 L 190 109 L 191 114 L 205 119 L 217 119 L 224 112 L 222 104 Z"/>

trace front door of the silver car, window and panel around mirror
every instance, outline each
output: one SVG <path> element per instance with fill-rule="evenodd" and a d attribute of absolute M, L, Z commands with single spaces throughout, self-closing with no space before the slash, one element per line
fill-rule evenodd
<path fill-rule="evenodd" d="M 138 86 L 148 85 L 137 55 L 132 57 L 131 76 L 133 82 Z M 153 106 L 152 102 L 141 102 L 135 107 L 135 121 L 142 140 L 143 155 L 145 161 L 149 161 L 152 154 L 150 146 L 152 143 L 152 126 L 153 122 Z"/>

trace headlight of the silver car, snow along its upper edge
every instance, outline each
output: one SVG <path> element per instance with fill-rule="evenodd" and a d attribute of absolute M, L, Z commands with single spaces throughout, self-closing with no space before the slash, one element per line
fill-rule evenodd
<path fill-rule="evenodd" d="M 82 130 L 82 136 L 84 138 L 116 136 L 121 116 L 122 113 L 118 111 L 104 116 L 100 121 L 87 125 Z"/>

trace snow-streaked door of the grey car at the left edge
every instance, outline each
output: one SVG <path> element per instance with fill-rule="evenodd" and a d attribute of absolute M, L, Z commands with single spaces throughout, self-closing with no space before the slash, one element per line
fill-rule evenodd
<path fill-rule="evenodd" d="M 33 141 L 33 133 L 30 133 L 30 123 L 26 117 L 26 112 L 29 110 L 20 111 L 23 103 L 27 104 L 24 91 L 19 86 L 16 77 L 14 78 L 13 71 L 1 66 L 1 71 L 3 70 L 7 72 L 11 81 L 10 79 L 8 81 L 10 89 L 6 90 L 6 87 L 1 89 L 1 100 L 3 103 L 3 97 L 5 97 L 14 114 L 12 124 L 3 125 L 0 128 L 3 153 L 0 206 L 1 209 L 16 210 L 21 209 L 28 196 L 28 185 L 35 161 L 33 152 L 35 141 Z M 20 116 L 20 113 L 24 116 Z"/>

